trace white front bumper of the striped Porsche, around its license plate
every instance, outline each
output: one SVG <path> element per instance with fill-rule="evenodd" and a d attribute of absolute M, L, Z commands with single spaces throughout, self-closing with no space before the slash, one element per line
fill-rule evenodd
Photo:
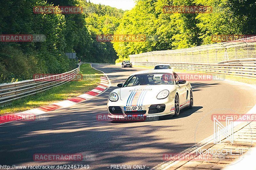
<path fill-rule="evenodd" d="M 154 104 L 165 104 L 165 109 L 163 112 L 160 113 L 148 113 L 149 107 Z M 124 106 L 126 106 L 126 100 L 118 100 L 117 102 L 111 102 L 108 101 L 107 109 L 108 109 L 108 117 L 112 120 L 130 120 L 131 117 L 159 117 L 159 116 L 165 116 L 165 115 L 174 115 L 174 98 L 165 98 L 165 99 L 150 99 L 148 102 L 143 102 L 143 105 L 145 106 L 146 113 L 136 113 L 136 114 L 127 114 L 124 111 Z M 109 111 L 109 107 L 113 106 L 119 106 L 122 110 L 122 113 L 120 114 L 112 114 Z"/>

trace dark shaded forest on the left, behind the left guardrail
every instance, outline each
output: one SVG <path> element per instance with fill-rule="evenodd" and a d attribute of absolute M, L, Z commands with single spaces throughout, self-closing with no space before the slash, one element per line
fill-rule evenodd
<path fill-rule="evenodd" d="M 35 6 L 79 6 L 82 13 L 34 13 Z M 96 41 L 113 34 L 124 11 L 77 0 L 0 1 L 0 35 L 45 35 L 43 42 L 0 42 L 0 83 L 64 73 L 84 62 L 115 63 L 113 44 Z M 65 53 L 76 52 L 77 59 Z"/>

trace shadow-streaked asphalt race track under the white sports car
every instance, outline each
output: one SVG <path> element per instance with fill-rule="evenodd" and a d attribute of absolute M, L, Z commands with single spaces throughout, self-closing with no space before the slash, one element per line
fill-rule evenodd
<path fill-rule="evenodd" d="M 103 94 L 80 104 L 44 114 L 46 121 L 17 121 L 0 125 L 0 165 L 146 165 L 163 162 L 164 153 L 179 153 L 195 144 L 198 122 L 215 109 L 244 114 L 256 103 L 255 89 L 227 81 L 191 82 L 194 108 L 180 117 L 149 122 L 98 121 L 107 114 L 107 98 L 118 83 L 142 68 L 93 65 L 107 73 L 112 86 Z M 217 111 L 219 112 L 219 111 Z M 216 113 L 217 113 L 216 112 Z M 196 143 L 213 134 L 210 114 L 200 121 Z M 35 162 L 36 153 L 82 153 L 95 159 L 82 162 Z"/>

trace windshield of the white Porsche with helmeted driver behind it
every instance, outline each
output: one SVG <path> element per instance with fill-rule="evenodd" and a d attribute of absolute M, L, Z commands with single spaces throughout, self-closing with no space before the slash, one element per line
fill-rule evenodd
<path fill-rule="evenodd" d="M 124 83 L 123 87 L 138 86 L 138 85 L 158 85 L 170 84 L 173 85 L 173 77 L 170 73 L 147 73 L 130 76 Z"/>

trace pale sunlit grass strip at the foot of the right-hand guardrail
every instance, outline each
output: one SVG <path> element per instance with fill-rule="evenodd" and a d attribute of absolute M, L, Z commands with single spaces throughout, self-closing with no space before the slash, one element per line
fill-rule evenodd
<path fill-rule="evenodd" d="M 147 69 L 154 69 L 154 66 L 133 66 L 138 68 L 147 68 Z M 188 70 L 179 70 L 179 69 L 173 69 L 176 73 L 205 73 L 205 72 L 198 72 L 198 71 L 188 71 Z M 223 74 L 225 75 L 225 74 Z M 234 75 L 225 75 L 226 80 L 232 80 L 232 81 L 239 81 L 247 84 L 256 84 L 255 78 L 245 78 L 245 77 L 239 77 Z"/>

